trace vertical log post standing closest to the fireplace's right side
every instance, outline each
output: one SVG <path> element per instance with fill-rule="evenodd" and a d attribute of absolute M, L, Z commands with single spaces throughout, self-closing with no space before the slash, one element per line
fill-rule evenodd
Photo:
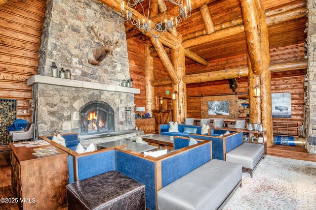
<path fill-rule="evenodd" d="M 146 88 L 146 111 L 152 115 L 155 109 L 155 87 L 151 85 L 154 80 L 154 58 L 149 56 L 149 46 L 145 44 L 145 88 Z"/>

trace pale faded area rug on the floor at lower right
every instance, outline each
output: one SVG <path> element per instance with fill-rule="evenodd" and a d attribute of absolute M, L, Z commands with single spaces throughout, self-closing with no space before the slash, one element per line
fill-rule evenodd
<path fill-rule="evenodd" d="M 316 210 L 316 162 L 267 155 L 224 210 Z"/>

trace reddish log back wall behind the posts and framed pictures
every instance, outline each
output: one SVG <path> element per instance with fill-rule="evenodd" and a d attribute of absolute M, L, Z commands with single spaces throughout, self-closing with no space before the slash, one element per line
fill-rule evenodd
<path fill-rule="evenodd" d="M 304 45 L 292 45 L 283 48 L 276 48 L 270 50 L 271 63 L 286 62 L 293 60 L 304 59 Z M 216 71 L 224 68 L 231 68 L 237 66 L 245 66 L 247 64 L 246 55 L 241 55 L 232 58 L 225 58 L 221 60 L 214 60 L 208 67 L 197 68 L 197 65 L 187 66 L 187 74 L 193 74 L 197 72 Z M 290 92 L 291 93 L 291 119 L 276 119 L 273 121 L 287 121 L 297 122 L 298 126 L 302 126 L 304 120 L 304 75 L 305 70 L 293 70 L 272 73 L 272 93 Z M 229 88 L 227 80 L 206 82 L 199 84 L 187 85 L 188 96 L 188 117 L 201 117 L 201 94 L 203 96 L 213 95 L 228 95 L 234 94 Z M 247 78 L 238 79 L 237 97 L 248 98 L 248 80 Z"/>

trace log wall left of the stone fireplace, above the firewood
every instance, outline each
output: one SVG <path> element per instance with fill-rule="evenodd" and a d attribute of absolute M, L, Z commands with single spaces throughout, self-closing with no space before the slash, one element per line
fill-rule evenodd
<path fill-rule="evenodd" d="M 17 99 L 17 118 L 28 121 L 32 89 L 26 80 L 37 74 L 45 5 L 19 0 L 0 7 L 0 98 Z"/>

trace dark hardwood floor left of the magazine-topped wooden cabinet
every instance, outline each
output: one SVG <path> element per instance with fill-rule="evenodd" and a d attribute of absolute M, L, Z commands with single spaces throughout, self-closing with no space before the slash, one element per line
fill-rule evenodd
<path fill-rule="evenodd" d="M 0 198 L 14 198 L 11 189 L 10 153 L 0 152 Z M 0 210 L 18 210 L 15 203 L 0 203 Z"/>

